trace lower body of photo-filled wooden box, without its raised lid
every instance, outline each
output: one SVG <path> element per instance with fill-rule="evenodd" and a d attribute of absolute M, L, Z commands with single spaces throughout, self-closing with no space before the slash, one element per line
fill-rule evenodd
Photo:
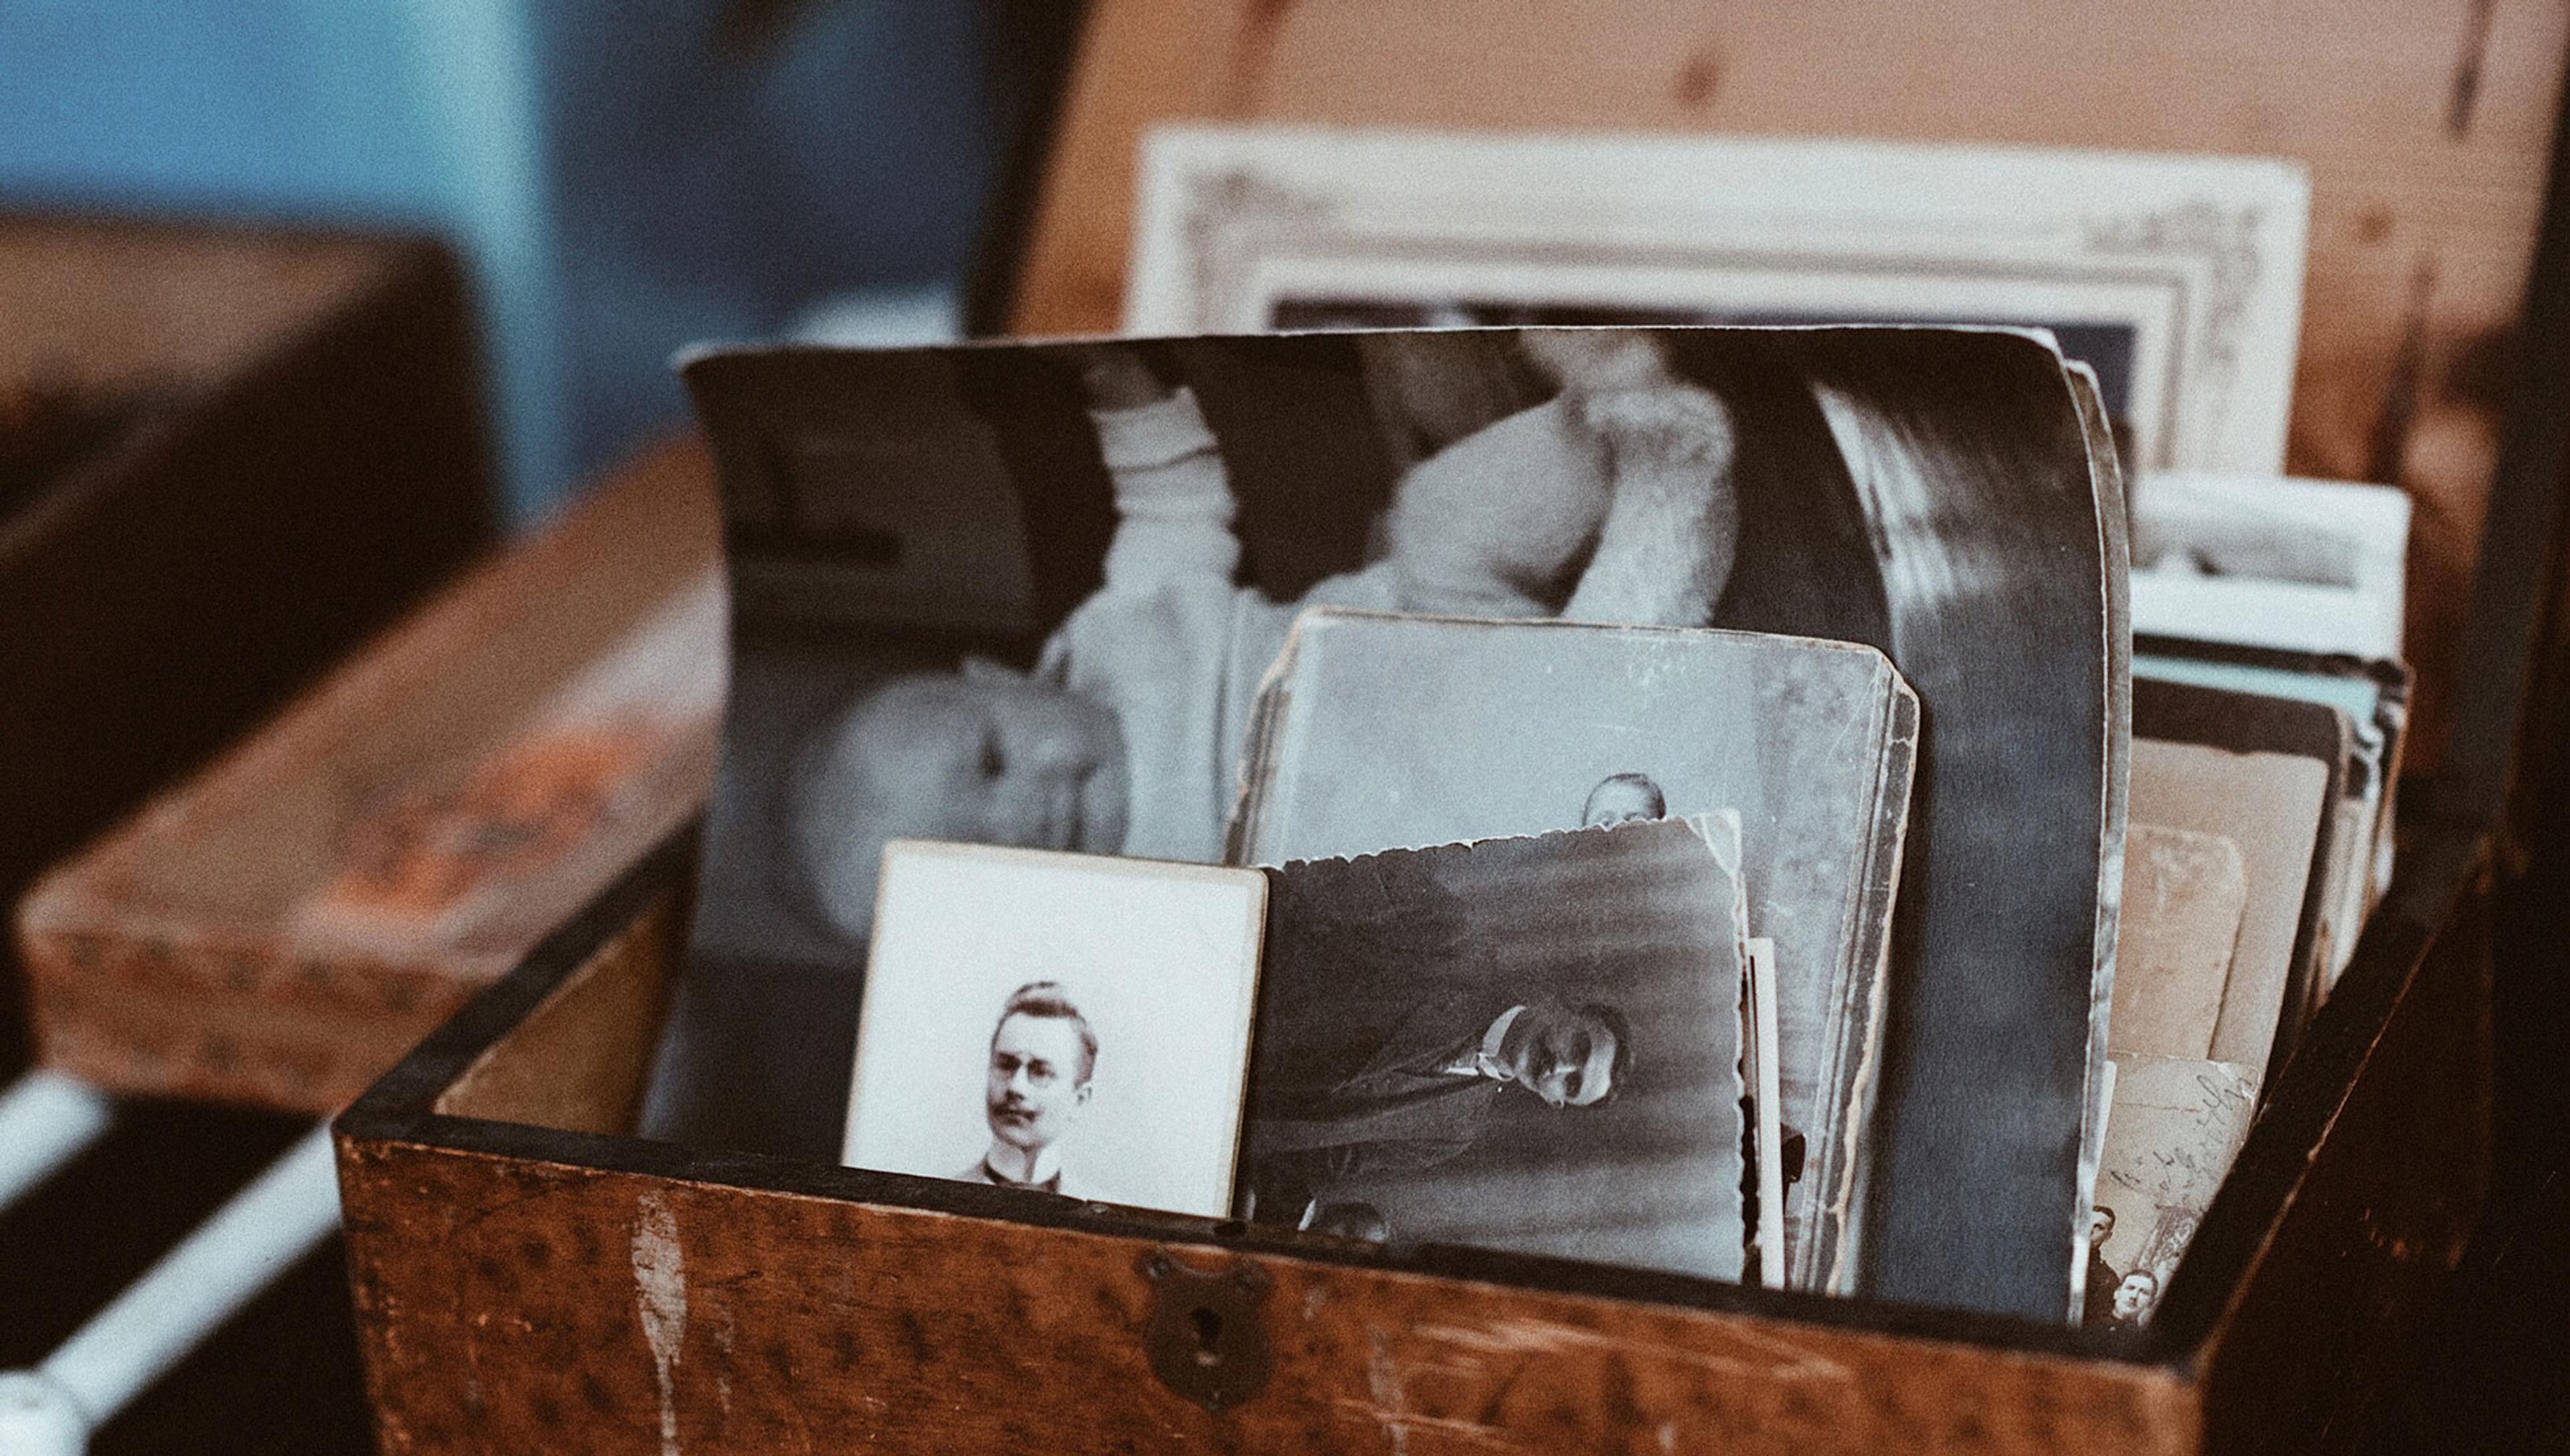
<path fill-rule="evenodd" d="M 2485 1045 L 2467 832 L 2413 850 L 2141 1338 L 1396 1258 L 627 1138 L 689 853 L 663 847 L 342 1114 L 386 1451 L 573 1433 L 594 1451 L 977 1453 L 2308 1443 L 2352 1410 L 2477 1202 L 2480 1086 L 2447 1063 Z M 2385 1161 L 2380 1138 L 2421 1120 L 2442 1140 Z M 2416 1253 L 2354 1258 L 2372 1235 Z M 2336 1310 L 2362 1317 L 2305 1325 Z"/>

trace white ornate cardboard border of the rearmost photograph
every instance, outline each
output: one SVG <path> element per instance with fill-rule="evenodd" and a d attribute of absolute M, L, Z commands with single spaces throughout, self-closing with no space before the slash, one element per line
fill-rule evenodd
<path fill-rule="evenodd" d="M 2308 213 L 2254 157 L 1162 126 L 1123 326 L 1298 298 L 2128 326 L 2131 465 L 2277 475 Z"/>

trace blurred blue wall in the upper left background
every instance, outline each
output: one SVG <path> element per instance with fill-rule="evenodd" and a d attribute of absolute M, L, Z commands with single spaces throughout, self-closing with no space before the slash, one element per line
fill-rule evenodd
<path fill-rule="evenodd" d="M 969 0 L 0 0 L 0 205 L 416 226 L 468 259 L 519 516 L 684 416 L 671 349 L 953 282 Z"/>

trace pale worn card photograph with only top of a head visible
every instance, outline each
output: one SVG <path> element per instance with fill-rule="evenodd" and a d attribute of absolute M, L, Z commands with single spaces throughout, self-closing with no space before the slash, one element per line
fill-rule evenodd
<path fill-rule="evenodd" d="M 1804 1153 L 1766 1248 L 1789 1284 L 1830 1289 L 1917 722 L 1892 663 L 1845 642 L 1313 609 L 1267 680 L 1234 842 L 1272 865 L 1737 809 L 1748 922 L 1776 945 L 1778 1114 Z"/>

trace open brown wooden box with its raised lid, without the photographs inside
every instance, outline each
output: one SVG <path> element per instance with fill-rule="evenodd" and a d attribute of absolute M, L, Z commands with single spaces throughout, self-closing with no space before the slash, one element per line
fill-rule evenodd
<path fill-rule="evenodd" d="M 2560 455 L 2526 442 L 2557 439 L 2570 370 L 2526 349 L 2511 385 L 2501 360 L 2521 308 L 2555 316 L 2521 290 L 2529 259 L 2562 277 L 2570 239 L 2555 216 L 2537 257 L 2565 46 L 2560 5 L 2390 0 L 1092 8 L 1015 298 L 1028 334 L 1113 329 L 1133 144 L 1167 118 L 2310 167 L 2290 462 L 2421 501 L 2411 642 L 2449 706 L 2413 763 L 2442 758 L 2444 781 L 2403 791 L 2400 878 L 2146 1330 L 1393 1256 L 637 1140 L 686 940 L 678 837 L 337 1122 L 383 1448 L 2359 1448 L 2490 1181 L 2488 824 L 2531 609 L 2483 603 L 2465 637 L 2465 606 L 2549 570 Z M 2493 493 L 2516 557 L 2480 539 Z M 2436 752 L 2447 727 L 2467 752 Z"/>

